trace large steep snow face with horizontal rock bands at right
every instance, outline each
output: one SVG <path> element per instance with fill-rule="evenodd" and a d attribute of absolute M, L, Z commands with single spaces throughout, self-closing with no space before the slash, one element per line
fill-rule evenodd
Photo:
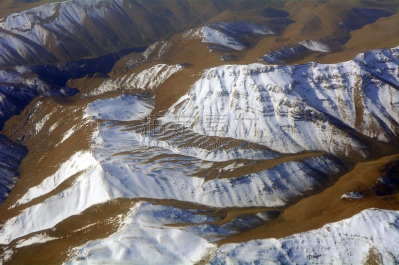
<path fill-rule="evenodd" d="M 399 83 L 397 50 L 384 50 L 388 55 L 378 59 L 384 74 L 378 77 L 359 63 L 362 55 L 332 65 L 208 69 L 163 120 L 186 117 L 179 123 L 197 133 L 259 142 L 281 153 L 321 150 L 366 157 L 363 141 L 347 126 L 379 141 L 397 138 L 399 91 L 390 86 Z M 375 64 L 369 57 L 364 64 Z"/>

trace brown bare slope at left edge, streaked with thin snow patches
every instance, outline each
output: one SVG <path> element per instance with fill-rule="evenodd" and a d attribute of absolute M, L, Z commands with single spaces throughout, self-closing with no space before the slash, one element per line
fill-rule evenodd
<path fill-rule="evenodd" d="M 38 115 L 31 117 L 32 108 L 38 101 L 42 101 L 38 113 L 36 112 Z M 19 168 L 20 180 L 0 207 L 0 223 L 6 220 L 7 216 L 13 216 L 28 206 L 23 205 L 23 207 L 15 207 L 11 210 L 7 209 L 29 187 L 39 184 L 43 178 L 54 174 L 59 165 L 75 152 L 90 148 L 91 135 L 97 126 L 95 122 L 91 124 L 82 123 L 83 110 L 82 103 L 78 101 L 65 101 L 64 98 L 37 98 L 20 115 L 14 116 L 6 122 L 2 133 L 9 135 L 13 141 L 21 141 L 28 148 L 29 153 L 23 159 Z M 37 135 L 32 133 L 35 130 L 35 124 L 50 112 L 54 114 L 50 116 L 40 132 Z M 58 126 L 49 133 L 49 127 L 54 124 L 58 124 Z M 81 126 L 79 126 L 80 124 Z M 74 125 L 76 125 L 75 132 L 64 142 L 58 144 L 65 132 Z M 68 187 L 70 181 L 67 180 L 61 186 Z M 50 194 L 39 197 L 35 202 L 42 201 L 49 196 Z M 29 206 L 32 203 L 29 203 Z M 7 213 L 4 213 L 4 211 Z"/>

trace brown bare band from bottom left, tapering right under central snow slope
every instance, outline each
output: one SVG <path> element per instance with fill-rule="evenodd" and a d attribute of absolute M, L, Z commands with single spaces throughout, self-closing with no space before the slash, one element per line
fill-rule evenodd
<path fill-rule="evenodd" d="M 216 219 L 220 220 L 215 222 L 217 225 L 222 225 L 226 222 L 229 222 L 237 216 L 251 215 L 258 212 L 275 210 L 274 208 L 270 209 L 263 207 L 218 209 L 176 200 L 120 198 L 92 206 L 79 215 L 71 216 L 63 220 L 53 229 L 32 233 L 25 237 L 14 240 L 9 244 L 9 247 L 12 248 L 15 254 L 12 257 L 12 260 L 8 261 L 8 263 L 31 265 L 60 264 L 68 258 L 71 258 L 70 250 L 72 248 L 78 247 L 89 240 L 104 238 L 116 232 L 120 225 L 121 218 L 123 218 L 123 216 L 128 213 L 129 209 L 139 201 L 147 201 L 154 204 L 167 206 L 169 205 L 182 209 L 203 210 L 206 211 L 206 214 L 213 215 Z M 18 242 L 28 239 L 35 234 L 41 233 L 45 233 L 49 237 L 56 237 L 58 239 L 51 240 L 43 244 L 34 244 L 27 247 L 16 248 Z M 32 257 L 34 258 L 32 259 Z"/>

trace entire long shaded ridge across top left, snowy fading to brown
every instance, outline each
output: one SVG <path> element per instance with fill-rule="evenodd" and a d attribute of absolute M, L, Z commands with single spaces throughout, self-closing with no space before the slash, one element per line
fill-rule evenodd
<path fill-rule="evenodd" d="M 195 25 L 188 16 L 191 12 L 202 12 L 201 19 L 207 19 L 243 7 L 247 8 L 245 3 L 234 1 L 204 7 L 184 0 L 179 8 L 162 1 L 50 2 L 1 20 L 0 67 L 52 64 L 143 46 Z"/>

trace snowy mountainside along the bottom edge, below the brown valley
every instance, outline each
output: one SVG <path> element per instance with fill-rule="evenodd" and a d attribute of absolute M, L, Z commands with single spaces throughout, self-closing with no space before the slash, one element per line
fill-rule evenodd
<path fill-rule="evenodd" d="M 211 257 L 209 264 L 212 265 L 335 262 L 395 264 L 398 262 L 396 255 L 399 243 L 398 215 L 398 211 L 369 209 L 317 230 L 281 239 L 226 244 L 218 249 L 215 244 L 201 241 L 202 238 L 198 236 L 199 230 L 202 235 L 211 234 L 210 225 L 207 229 L 204 226 L 200 228 L 190 226 L 184 229 L 173 227 L 165 229 L 158 226 L 159 221 L 168 223 L 171 219 L 179 223 L 204 222 L 195 213 L 184 214 L 169 207 L 138 204 L 122 221 L 121 231 L 124 233 L 116 233 L 109 239 L 91 242 L 77 248 L 75 260 L 66 264 L 88 264 L 90 257 L 102 263 L 129 262 L 134 259 L 143 264 L 185 264 L 198 262 L 204 256 Z M 201 217 L 206 218 L 203 215 Z M 132 218 L 134 220 L 131 220 Z M 183 218 L 191 220 L 182 220 Z M 218 232 L 221 234 L 223 231 Z M 143 233 L 146 233 L 145 236 Z M 162 240 L 156 240 L 157 236 L 161 236 Z M 155 240 L 155 244 L 150 240 Z M 166 242 L 176 243 L 163 244 Z M 142 251 L 154 246 L 164 255 L 160 253 L 149 255 Z"/>

